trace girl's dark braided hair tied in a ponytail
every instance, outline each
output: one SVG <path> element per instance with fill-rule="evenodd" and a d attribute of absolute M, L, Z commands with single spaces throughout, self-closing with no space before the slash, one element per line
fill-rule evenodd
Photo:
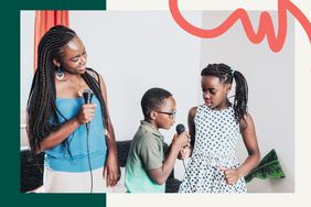
<path fill-rule="evenodd" d="M 248 101 L 248 87 L 247 81 L 242 73 L 230 69 L 226 64 L 208 64 L 202 72 L 201 76 L 215 76 L 221 79 L 223 84 L 233 84 L 236 81 L 235 98 L 233 108 L 235 111 L 235 120 L 239 123 L 243 119 L 245 121 L 245 115 L 247 113 Z"/>

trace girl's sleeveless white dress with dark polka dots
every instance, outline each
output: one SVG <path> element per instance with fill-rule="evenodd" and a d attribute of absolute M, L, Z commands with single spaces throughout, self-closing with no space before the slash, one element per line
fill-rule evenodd
<path fill-rule="evenodd" d="M 218 167 L 239 166 L 235 156 L 239 124 L 232 107 L 223 110 L 197 107 L 194 118 L 195 143 L 180 193 L 245 193 L 244 178 L 235 185 L 227 185 L 224 173 Z"/>

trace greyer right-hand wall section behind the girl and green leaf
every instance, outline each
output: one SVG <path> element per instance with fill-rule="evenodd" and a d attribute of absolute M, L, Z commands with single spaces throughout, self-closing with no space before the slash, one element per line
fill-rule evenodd
<path fill-rule="evenodd" d="M 230 12 L 205 11 L 203 28 L 219 25 Z M 257 30 L 260 12 L 249 12 L 251 23 Z M 276 12 L 272 14 L 275 28 L 278 25 Z M 208 63 L 226 63 L 233 69 L 240 70 L 249 87 L 249 112 L 251 113 L 264 157 L 276 149 L 281 166 L 287 175 L 285 179 L 258 181 L 248 184 L 249 192 L 294 192 L 294 24 L 291 17 L 288 34 L 281 52 L 270 51 L 267 39 L 253 44 L 238 21 L 224 35 L 203 40 L 201 48 L 201 68 Z M 200 97 L 200 102 L 202 98 Z M 243 141 L 237 155 L 240 161 L 247 156 Z"/>

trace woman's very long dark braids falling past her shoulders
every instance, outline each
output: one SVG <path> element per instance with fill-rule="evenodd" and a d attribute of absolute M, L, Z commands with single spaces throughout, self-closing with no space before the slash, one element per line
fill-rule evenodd
<path fill-rule="evenodd" d="M 66 118 L 58 111 L 55 87 L 55 66 L 52 62 L 53 58 L 62 58 L 63 47 L 76 36 L 76 33 L 63 25 L 51 28 L 41 39 L 37 47 L 37 66 L 32 81 L 30 96 L 26 106 L 28 119 L 28 138 L 32 152 L 40 150 L 40 142 L 44 140 L 51 132 L 61 127 L 57 113 L 65 120 Z M 87 68 L 96 73 L 95 70 Z M 97 73 L 96 73 L 97 74 Z M 103 123 L 108 126 L 106 103 L 101 95 L 99 76 L 97 79 L 84 73 L 82 75 L 88 87 L 93 90 L 98 98 L 101 108 Z M 51 119 L 55 122 L 51 122 Z M 65 145 L 68 146 L 67 140 Z"/>

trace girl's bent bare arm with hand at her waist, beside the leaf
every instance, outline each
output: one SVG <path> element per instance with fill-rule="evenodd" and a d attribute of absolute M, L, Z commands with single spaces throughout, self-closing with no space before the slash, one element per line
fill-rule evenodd
<path fill-rule="evenodd" d="M 254 167 L 256 167 L 260 161 L 260 152 L 257 143 L 255 124 L 249 113 L 245 116 L 245 121 L 242 120 L 240 122 L 240 132 L 244 144 L 248 152 L 248 156 L 239 167 L 235 170 L 224 170 L 228 184 L 235 184 L 238 178 L 245 176 Z"/>

